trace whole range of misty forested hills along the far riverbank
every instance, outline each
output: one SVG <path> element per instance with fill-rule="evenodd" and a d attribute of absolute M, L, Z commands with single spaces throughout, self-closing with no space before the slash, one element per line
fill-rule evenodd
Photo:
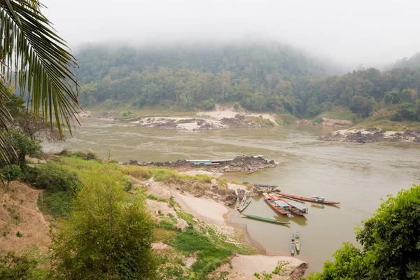
<path fill-rule="evenodd" d="M 82 106 L 107 109 L 159 104 L 211 110 L 235 102 L 251 111 L 311 117 L 335 106 L 359 118 L 387 110 L 393 120 L 420 120 L 418 68 L 328 76 L 327 64 L 280 44 L 223 47 L 85 47 L 78 54 Z M 385 110 L 385 111 L 386 111 Z"/>

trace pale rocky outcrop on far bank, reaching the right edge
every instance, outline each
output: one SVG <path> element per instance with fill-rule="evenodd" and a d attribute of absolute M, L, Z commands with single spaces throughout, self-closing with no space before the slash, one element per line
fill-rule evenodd
<path fill-rule="evenodd" d="M 318 137 L 323 141 L 344 141 L 352 143 L 375 142 L 414 142 L 420 143 L 420 130 L 405 130 L 404 132 L 386 132 L 373 127 L 365 130 L 338 130 L 327 136 Z"/>

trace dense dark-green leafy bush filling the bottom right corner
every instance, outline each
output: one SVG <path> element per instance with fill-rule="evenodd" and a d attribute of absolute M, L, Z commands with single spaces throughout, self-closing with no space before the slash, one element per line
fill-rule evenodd
<path fill-rule="evenodd" d="M 420 279 L 420 186 L 389 197 L 311 280 Z"/>

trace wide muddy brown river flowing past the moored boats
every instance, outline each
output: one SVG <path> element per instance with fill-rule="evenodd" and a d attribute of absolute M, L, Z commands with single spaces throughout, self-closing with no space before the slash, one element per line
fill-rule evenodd
<path fill-rule="evenodd" d="M 290 218 L 290 228 L 235 216 L 248 224 L 251 236 L 269 251 L 290 255 L 290 234 L 300 232 L 301 253 L 319 271 L 344 241 L 356 244 L 354 228 L 369 218 L 386 195 L 420 182 L 420 144 L 350 144 L 318 141 L 331 127 L 286 126 L 262 129 L 200 132 L 158 130 L 132 124 L 84 118 L 82 127 L 65 142 L 44 143 L 45 152 L 63 148 L 93 151 L 99 157 L 124 162 L 175 161 L 186 158 L 235 158 L 265 155 L 279 162 L 273 169 L 253 174 L 226 174 L 228 179 L 278 185 L 284 193 L 339 201 L 339 207 L 318 207 L 307 202 L 306 217 Z M 267 218 L 278 217 L 256 197 L 244 211 Z"/>

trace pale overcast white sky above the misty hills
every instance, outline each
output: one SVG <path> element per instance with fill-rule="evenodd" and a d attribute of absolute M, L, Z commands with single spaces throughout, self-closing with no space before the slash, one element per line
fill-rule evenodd
<path fill-rule="evenodd" d="M 349 66 L 381 68 L 420 51 L 420 0 L 41 0 L 75 49 L 83 43 L 267 38 Z"/>

